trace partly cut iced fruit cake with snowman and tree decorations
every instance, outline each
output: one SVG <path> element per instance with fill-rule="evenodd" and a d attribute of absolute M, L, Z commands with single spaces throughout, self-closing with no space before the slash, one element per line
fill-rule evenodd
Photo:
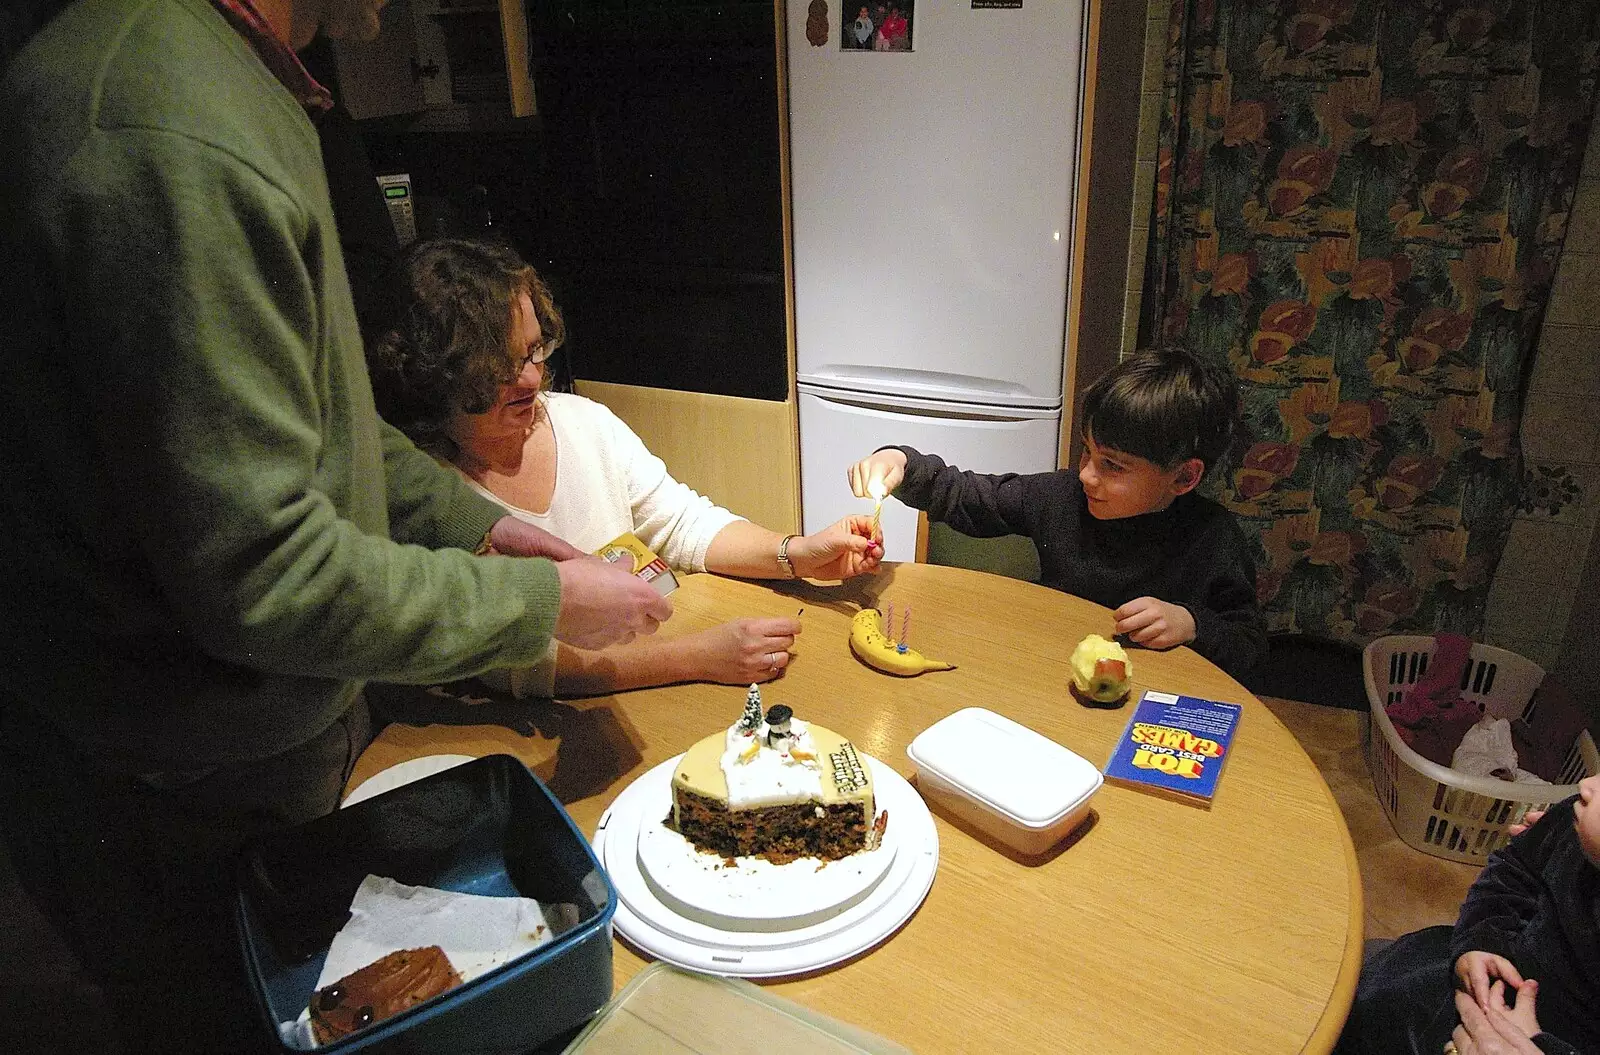
<path fill-rule="evenodd" d="M 667 823 L 707 853 L 787 864 L 875 848 L 888 813 L 874 818 L 872 773 L 854 744 L 784 704 L 763 714 L 750 685 L 739 720 L 678 762 Z"/>

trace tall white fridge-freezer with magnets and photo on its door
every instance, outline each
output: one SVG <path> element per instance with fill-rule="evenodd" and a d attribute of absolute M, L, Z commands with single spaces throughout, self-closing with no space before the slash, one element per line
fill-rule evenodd
<path fill-rule="evenodd" d="M 1056 467 L 1085 38 L 1083 0 L 917 0 L 910 50 L 845 48 L 850 0 L 814 45 L 814 6 L 786 26 L 806 532 L 870 512 L 845 471 L 886 443 Z M 882 517 L 910 560 L 915 511 Z"/>

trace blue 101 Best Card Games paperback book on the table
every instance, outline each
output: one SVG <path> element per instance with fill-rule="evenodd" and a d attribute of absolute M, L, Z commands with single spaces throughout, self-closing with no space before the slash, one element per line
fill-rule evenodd
<path fill-rule="evenodd" d="M 1146 690 L 1106 780 L 1210 808 L 1242 712 L 1237 703 Z"/>

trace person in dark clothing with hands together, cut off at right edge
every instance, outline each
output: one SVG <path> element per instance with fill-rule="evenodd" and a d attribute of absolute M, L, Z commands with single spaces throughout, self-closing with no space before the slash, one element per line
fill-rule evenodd
<path fill-rule="evenodd" d="M 1334 1050 L 1600 1052 L 1597 1009 L 1600 776 L 1590 776 L 1490 855 L 1454 927 L 1411 932 L 1368 959 Z"/>

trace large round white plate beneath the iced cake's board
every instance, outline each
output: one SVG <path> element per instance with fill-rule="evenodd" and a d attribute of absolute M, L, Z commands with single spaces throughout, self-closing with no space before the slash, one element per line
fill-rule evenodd
<path fill-rule="evenodd" d="M 618 890 L 616 929 L 645 953 L 714 975 L 797 975 L 838 964 L 878 945 L 910 919 L 928 895 L 939 864 L 933 816 L 906 778 L 862 756 L 872 767 L 877 808 L 890 815 L 885 845 L 872 853 L 894 850 L 883 874 L 862 895 L 846 898 L 837 914 L 754 922 L 734 922 L 682 903 L 670 905 L 677 898 L 658 893 L 659 889 L 640 866 L 638 848 L 643 826 L 659 826 L 672 808 L 672 773 L 680 757 L 667 759 L 629 784 L 600 816 L 594 837 L 595 853 Z M 888 844 L 890 832 L 894 832 L 893 845 Z M 778 868 L 790 869 L 786 874 L 795 884 L 818 874 L 814 858 Z"/>

